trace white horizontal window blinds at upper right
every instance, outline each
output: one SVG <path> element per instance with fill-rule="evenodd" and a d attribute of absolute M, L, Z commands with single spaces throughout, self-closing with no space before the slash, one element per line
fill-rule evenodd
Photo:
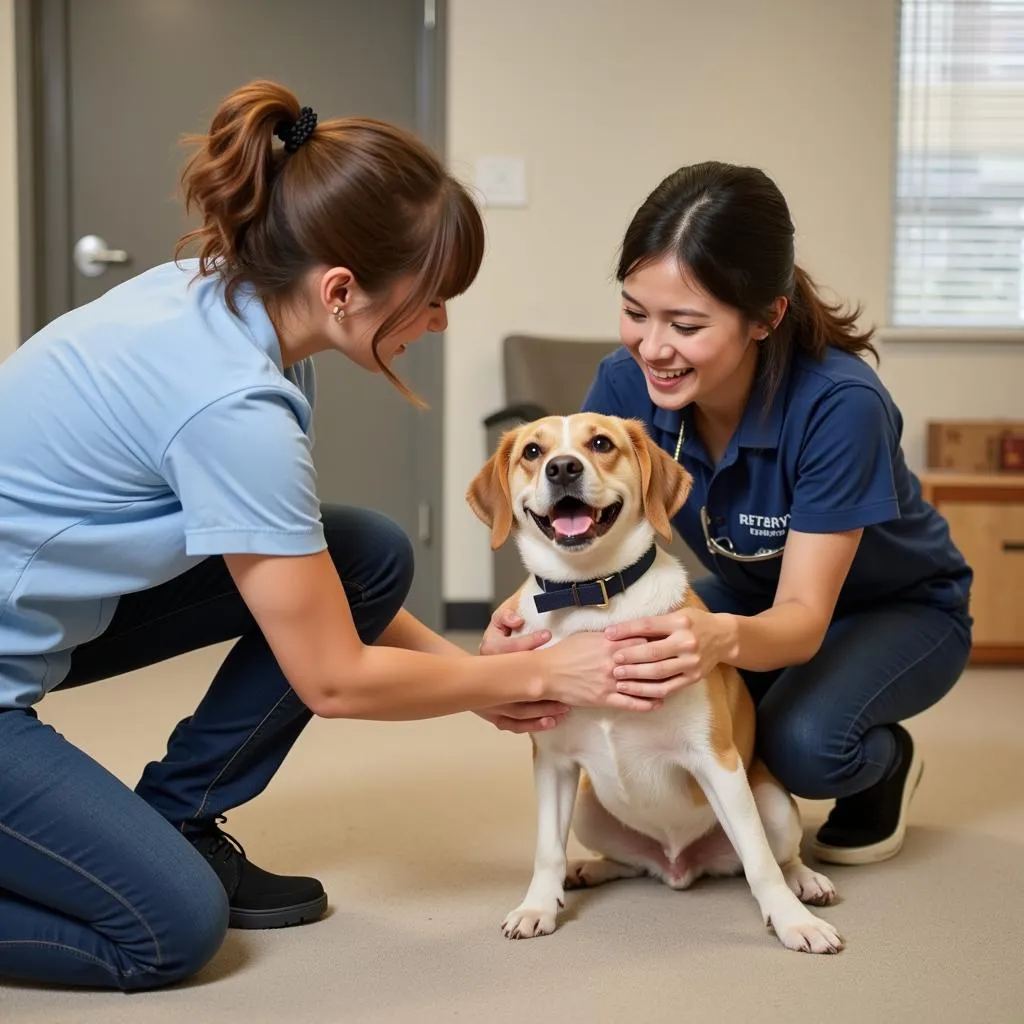
<path fill-rule="evenodd" d="M 891 323 L 1024 328 L 1024 0 L 903 0 Z"/>

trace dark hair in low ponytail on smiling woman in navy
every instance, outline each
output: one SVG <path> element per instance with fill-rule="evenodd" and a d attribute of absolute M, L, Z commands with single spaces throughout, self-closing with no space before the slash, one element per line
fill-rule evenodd
<path fill-rule="evenodd" d="M 788 207 L 764 171 L 709 162 L 670 174 L 627 228 L 616 276 L 623 282 L 668 255 L 719 302 L 769 328 L 759 357 L 766 409 L 797 351 L 820 359 L 831 345 L 878 358 L 873 331 L 856 328 L 859 307 L 829 305 L 796 264 Z M 788 308 L 772 330 L 780 296 Z"/>

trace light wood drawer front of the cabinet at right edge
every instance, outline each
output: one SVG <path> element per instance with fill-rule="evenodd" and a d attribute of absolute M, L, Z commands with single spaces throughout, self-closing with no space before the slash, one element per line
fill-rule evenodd
<path fill-rule="evenodd" d="M 1024 504 L 947 500 L 940 510 L 974 569 L 974 642 L 1024 643 Z"/>

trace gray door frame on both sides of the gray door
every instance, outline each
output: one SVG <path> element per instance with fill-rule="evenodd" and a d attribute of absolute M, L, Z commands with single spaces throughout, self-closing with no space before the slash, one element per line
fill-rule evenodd
<path fill-rule="evenodd" d="M 19 339 L 25 342 L 72 305 L 72 221 L 68 5 L 14 0 L 17 113 Z M 447 0 L 420 0 L 415 130 L 446 159 Z M 101 144 L 101 140 L 100 140 Z M 171 258 L 171 255 L 168 255 Z M 424 617 L 440 629 L 443 609 L 444 338 L 410 350 L 415 386 L 432 415 L 411 431 L 410 471 L 428 505 L 420 543 L 435 600 Z M 424 521 L 424 519 L 426 521 Z M 425 536 L 424 536 L 425 535 Z M 421 554 L 422 557 L 422 554 Z"/>

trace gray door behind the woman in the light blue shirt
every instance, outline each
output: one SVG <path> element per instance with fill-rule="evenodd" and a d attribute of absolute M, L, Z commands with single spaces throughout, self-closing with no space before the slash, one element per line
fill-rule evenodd
<path fill-rule="evenodd" d="M 49 209 L 39 265 L 65 282 L 41 306 L 47 318 L 173 258 L 186 226 L 179 140 L 205 131 L 218 100 L 252 79 L 282 82 L 323 119 L 380 117 L 440 144 L 431 0 L 44 0 L 41 10 Z M 129 261 L 83 275 L 71 257 L 84 236 Z M 426 414 L 338 353 L 316 359 L 321 499 L 379 509 L 406 528 L 417 548 L 409 606 L 435 628 L 442 357 L 430 338 L 397 366 L 430 402 Z"/>

